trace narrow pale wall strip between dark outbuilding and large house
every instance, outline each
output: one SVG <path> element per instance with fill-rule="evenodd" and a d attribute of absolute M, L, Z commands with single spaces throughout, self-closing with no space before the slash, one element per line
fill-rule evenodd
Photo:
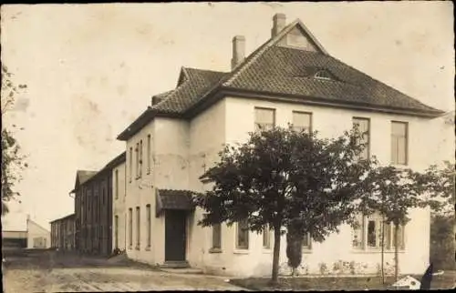
<path fill-rule="evenodd" d="M 112 169 L 112 248 L 119 248 L 120 250 L 125 249 L 127 246 L 127 234 L 126 232 L 126 217 L 127 212 L 125 210 L 126 205 L 126 173 L 125 162 L 119 164 Z M 118 186 L 116 186 L 116 172 L 118 174 Z M 116 197 L 117 195 L 117 197 Z M 115 217 L 118 217 L 118 243 L 116 247 L 116 230 L 114 227 Z"/>

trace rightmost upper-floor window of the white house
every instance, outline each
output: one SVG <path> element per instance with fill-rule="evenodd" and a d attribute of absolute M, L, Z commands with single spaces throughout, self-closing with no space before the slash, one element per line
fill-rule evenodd
<path fill-rule="evenodd" d="M 391 122 L 391 163 L 407 165 L 408 124 L 406 122 Z"/>

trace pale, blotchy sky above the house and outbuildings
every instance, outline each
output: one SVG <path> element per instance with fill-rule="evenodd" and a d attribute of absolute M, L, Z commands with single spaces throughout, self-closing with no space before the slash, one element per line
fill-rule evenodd
<path fill-rule="evenodd" d="M 76 171 L 119 155 L 116 136 L 176 86 L 181 66 L 229 71 L 233 36 L 250 54 L 275 13 L 301 19 L 331 56 L 454 110 L 452 12 L 433 1 L 2 5 L 2 63 L 27 85 L 2 122 L 25 128 L 16 137 L 29 164 L 3 228 L 72 213 Z"/>

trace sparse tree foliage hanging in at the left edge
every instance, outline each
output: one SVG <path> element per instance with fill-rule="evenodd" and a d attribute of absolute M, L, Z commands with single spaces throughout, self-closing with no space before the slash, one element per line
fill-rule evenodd
<path fill-rule="evenodd" d="M 14 132 L 5 126 L 5 114 L 14 105 L 16 95 L 26 88 L 26 85 L 16 87 L 11 76 L 7 67 L 2 66 L 2 216 L 8 212 L 6 203 L 20 196 L 14 187 L 21 179 L 20 171 L 27 167 L 25 157 L 20 154 L 20 146 L 14 137 Z M 12 127 L 16 128 L 16 125 L 12 125 Z"/>

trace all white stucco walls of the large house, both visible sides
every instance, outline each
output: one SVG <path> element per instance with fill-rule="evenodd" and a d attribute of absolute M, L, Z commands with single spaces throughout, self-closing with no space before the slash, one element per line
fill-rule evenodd
<path fill-rule="evenodd" d="M 336 137 L 352 127 L 352 117 L 370 118 L 370 153 L 378 157 L 382 164 L 390 160 L 391 120 L 409 122 L 409 167 L 424 169 L 434 163 L 432 151 L 438 149 L 438 139 L 429 139 L 436 132 L 438 124 L 430 120 L 348 109 L 321 106 L 303 106 L 267 102 L 252 98 L 226 97 L 191 121 L 156 117 L 148 126 L 140 130 L 127 142 L 125 215 L 133 210 L 133 245 L 129 248 L 129 231 L 125 232 L 129 258 L 150 264 L 164 262 L 164 217 L 155 217 L 155 189 L 208 190 L 199 177 L 218 160 L 218 152 L 225 143 L 244 142 L 248 132 L 254 130 L 254 107 L 275 108 L 277 126 L 292 122 L 292 111 L 312 112 L 313 128 L 320 136 Z M 151 135 L 152 168 L 147 173 L 147 135 Z M 437 136 L 440 136 L 437 135 Z M 144 164 L 141 178 L 130 175 L 130 147 L 142 139 Z M 134 155 L 134 152 L 133 152 Z M 135 157 L 132 167 L 135 169 Z M 151 207 L 150 248 L 146 248 L 147 219 L 146 205 Z M 140 207 L 140 248 L 136 249 L 136 207 Z M 421 274 L 428 266 L 430 211 L 417 209 L 410 211 L 412 220 L 405 228 L 406 249 L 399 252 L 401 273 Z M 263 248 L 261 234 L 250 233 L 248 250 L 235 249 L 235 225 L 222 227 L 222 251 L 212 253 L 212 227 L 197 225 L 202 218 L 202 210 L 197 208 L 190 214 L 187 227 L 186 257 L 194 268 L 202 268 L 207 273 L 231 276 L 268 276 L 272 269 L 272 249 Z M 129 219 L 125 217 L 128 227 Z M 271 237 L 273 237 L 271 235 Z M 271 248 L 274 239 L 271 240 Z M 286 242 L 282 238 L 280 263 L 286 267 Z M 385 262 L 392 263 L 393 253 L 387 251 Z M 379 251 L 356 251 L 351 248 L 351 228 L 341 227 L 340 233 L 326 238 L 324 243 L 313 243 L 310 251 L 305 251 L 303 266 L 309 274 L 320 274 L 320 264 L 333 267 L 338 261 L 353 262 L 359 274 L 377 274 L 380 261 Z M 388 267 L 389 265 L 387 265 Z"/>

